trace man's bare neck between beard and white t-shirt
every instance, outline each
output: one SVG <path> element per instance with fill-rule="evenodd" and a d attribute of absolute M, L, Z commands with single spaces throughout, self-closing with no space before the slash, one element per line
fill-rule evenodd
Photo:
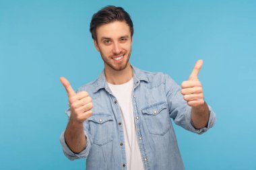
<path fill-rule="evenodd" d="M 104 69 L 106 81 L 113 85 L 121 85 L 127 83 L 133 77 L 133 69 L 130 63 L 127 63 L 127 67 L 121 71 L 115 71 L 105 66 Z"/>

